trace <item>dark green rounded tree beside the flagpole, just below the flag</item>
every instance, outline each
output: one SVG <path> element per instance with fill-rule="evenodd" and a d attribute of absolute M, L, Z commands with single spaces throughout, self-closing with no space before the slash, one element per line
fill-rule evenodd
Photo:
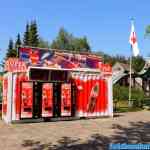
<path fill-rule="evenodd" d="M 132 67 L 136 72 L 140 72 L 145 65 L 145 60 L 142 56 L 132 58 Z"/>

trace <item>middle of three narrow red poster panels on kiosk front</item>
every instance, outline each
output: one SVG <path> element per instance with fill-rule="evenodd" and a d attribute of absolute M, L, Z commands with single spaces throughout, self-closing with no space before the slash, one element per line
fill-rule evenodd
<path fill-rule="evenodd" d="M 43 83 L 42 86 L 42 117 L 53 116 L 53 84 Z"/>

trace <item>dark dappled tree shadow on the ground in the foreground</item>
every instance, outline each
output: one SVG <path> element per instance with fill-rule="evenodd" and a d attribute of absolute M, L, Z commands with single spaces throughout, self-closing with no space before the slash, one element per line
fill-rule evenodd
<path fill-rule="evenodd" d="M 107 150 L 109 143 L 149 143 L 150 142 L 150 122 L 130 122 L 129 127 L 113 124 L 111 127 L 114 134 L 110 137 L 94 134 L 89 139 L 80 143 L 80 139 L 62 137 L 57 141 L 57 145 L 44 143 L 41 141 L 24 140 L 23 147 L 30 150 Z"/>

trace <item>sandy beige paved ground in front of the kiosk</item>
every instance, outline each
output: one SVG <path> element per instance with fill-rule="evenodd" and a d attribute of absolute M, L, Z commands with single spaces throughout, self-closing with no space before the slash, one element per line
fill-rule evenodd
<path fill-rule="evenodd" d="M 0 120 L 1 150 L 103 150 L 109 143 L 150 143 L 150 111 L 13 125 Z"/>

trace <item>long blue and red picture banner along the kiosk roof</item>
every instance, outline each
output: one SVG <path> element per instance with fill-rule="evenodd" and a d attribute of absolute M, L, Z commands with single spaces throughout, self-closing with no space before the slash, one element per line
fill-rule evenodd
<path fill-rule="evenodd" d="M 50 68 L 99 68 L 101 58 L 92 54 L 71 54 L 40 48 L 20 47 L 20 60 L 27 66 L 44 66 Z"/>

